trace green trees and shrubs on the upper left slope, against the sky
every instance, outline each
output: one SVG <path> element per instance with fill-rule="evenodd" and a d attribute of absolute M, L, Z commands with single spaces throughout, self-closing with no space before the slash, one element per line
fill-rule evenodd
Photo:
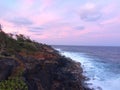
<path fill-rule="evenodd" d="M 34 52 L 38 51 L 38 46 L 36 42 L 30 40 L 29 37 L 25 37 L 22 34 L 16 35 L 16 39 L 13 38 L 13 34 L 6 34 L 3 31 L 0 32 L 0 53 L 6 51 L 10 54 L 15 54 L 18 52 Z"/>

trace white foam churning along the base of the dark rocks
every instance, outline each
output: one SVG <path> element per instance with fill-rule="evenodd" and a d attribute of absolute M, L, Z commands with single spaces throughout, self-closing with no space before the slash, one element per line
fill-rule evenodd
<path fill-rule="evenodd" d="M 71 59 L 80 62 L 82 64 L 84 73 L 87 77 L 90 78 L 87 83 L 92 83 L 89 85 L 90 88 L 94 88 L 95 90 L 120 90 L 120 78 L 105 76 L 107 71 L 104 71 L 102 65 L 95 65 L 95 62 L 87 57 L 83 53 L 76 52 L 61 52 L 62 55 L 66 57 L 70 57 Z"/>

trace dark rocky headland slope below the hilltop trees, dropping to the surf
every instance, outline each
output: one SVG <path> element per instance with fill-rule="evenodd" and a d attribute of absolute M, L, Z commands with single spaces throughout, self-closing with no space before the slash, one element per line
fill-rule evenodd
<path fill-rule="evenodd" d="M 28 44 L 34 45 L 34 48 L 29 46 L 32 51 L 25 47 Z M 28 42 L 26 39 L 18 47 L 20 49 L 16 51 L 16 48 L 8 46 L 1 49 L 0 89 L 11 90 L 8 88 L 13 87 L 12 90 L 89 90 L 84 87 L 85 77 L 82 75 L 80 63 L 60 55 L 51 46 Z"/>

